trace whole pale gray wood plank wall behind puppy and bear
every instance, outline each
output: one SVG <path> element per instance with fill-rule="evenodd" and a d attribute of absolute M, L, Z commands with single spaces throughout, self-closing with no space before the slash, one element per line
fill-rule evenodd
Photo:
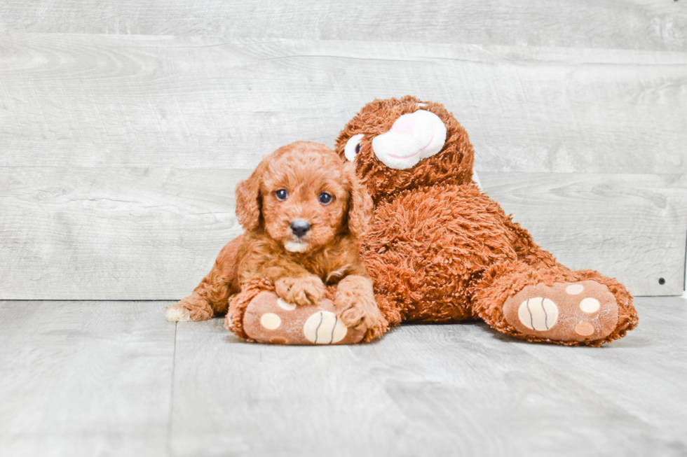
<path fill-rule="evenodd" d="M 0 3 L 0 299 L 183 297 L 262 155 L 404 94 L 559 260 L 680 295 L 686 51 L 685 1 Z"/>

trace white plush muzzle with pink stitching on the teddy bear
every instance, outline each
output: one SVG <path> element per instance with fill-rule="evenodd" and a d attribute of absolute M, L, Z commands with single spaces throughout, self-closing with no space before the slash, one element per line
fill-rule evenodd
<path fill-rule="evenodd" d="M 435 113 L 419 110 L 402 115 L 388 132 L 375 136 L 372 150 L 387 167 L 404 170 L 438 153 L 444 143 L 444 122 Z"/>

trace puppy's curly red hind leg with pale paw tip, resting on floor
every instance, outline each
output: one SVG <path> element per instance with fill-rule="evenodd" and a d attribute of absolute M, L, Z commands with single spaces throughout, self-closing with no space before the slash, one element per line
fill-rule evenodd
<path fill-rule="evenodd" d="M 207 321 L 226 314 L 229 296 L 239 290 L 236 275 L 239 244 L 240 237 L 237 237 L 222 248 L 210 273 L 193 293 L 167 308 L 168 321 Z"/>

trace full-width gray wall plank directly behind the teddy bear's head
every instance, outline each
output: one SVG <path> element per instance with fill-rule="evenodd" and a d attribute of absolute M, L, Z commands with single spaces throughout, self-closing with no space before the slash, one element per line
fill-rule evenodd
<path fill-rule="evenodd" d="M 251 169 L 416 94 L 479 171 L 687 174 L 684 52 L 8 34 L 0 82 L 4 167 Z"/>

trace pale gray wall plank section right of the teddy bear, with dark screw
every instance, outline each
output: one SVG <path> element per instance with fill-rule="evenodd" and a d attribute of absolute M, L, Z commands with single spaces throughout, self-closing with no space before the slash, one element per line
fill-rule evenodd
<path fill-rule="evenodd" d="M 567 267 L 597 269 L 634 295 L 681 295 L 687 176 L 480 173 L 479 178 L 487 194 Z"/>

